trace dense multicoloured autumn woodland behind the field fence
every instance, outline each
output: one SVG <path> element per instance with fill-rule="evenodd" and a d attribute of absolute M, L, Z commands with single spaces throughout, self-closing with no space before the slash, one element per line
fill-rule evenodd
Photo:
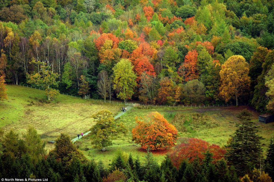
<path fill-rule="evenodd" d="M 3 0 L 0 9 L 0 88 L 273 110 L 272 1 Z"/>

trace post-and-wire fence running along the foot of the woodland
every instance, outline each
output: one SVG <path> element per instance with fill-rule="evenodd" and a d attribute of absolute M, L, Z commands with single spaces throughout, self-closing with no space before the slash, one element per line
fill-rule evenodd
<path fill-rule="evenodd" d="M 27 87 L 27 88 L 32 88 L 32 89 L 39 89 L 39 90 L 45 90 L 45 88 L 43 87 L 36 87 L 36 86 L 32 86 L 32 85 L 28 85 L 28 84 L 20 84 L 19 86 L 23 86 L 23 87 Z M 134 107 L 139 107 L 140 109 L 144 108 L 144 109 L 148 109 L 148 108 L 165 108 L 165 109 L 173 109 L 173 108 L 208 108 L 208 107 L 229 107 L 229 106 L 236 106 L 236 104 L 180 104 L 180 105 L 152 105 L 152 104 L 140 104 L 140 103 L 133 103 L 133 102 L 121 102 L 121 101 L 111 101 L 111 100 L 101 100 L 101 99 L 93 99 L 93 98 L 87 98 L 85 99 L 85 97 L 81 97 L 81 96 L 77 96 L 77 95 L 72 95 L 72 94 L 68 94 L 68 93 L 60 93 L 61 95 L 67 95 L 67 96 L 71 96 L 73 98 L 78 98 L 78 99 L 83 99 L 83 100 L 88 100 L 88 101 L 92 101 L 95 104 L 112 104 L 112 105 L 121 105 L 121 106 L 134 106 Z M 247 104 L 248 105 L 248 104 Z M 246 103 L 242 104 L 238 104 L 238 106 L 246 106 Z"/>

